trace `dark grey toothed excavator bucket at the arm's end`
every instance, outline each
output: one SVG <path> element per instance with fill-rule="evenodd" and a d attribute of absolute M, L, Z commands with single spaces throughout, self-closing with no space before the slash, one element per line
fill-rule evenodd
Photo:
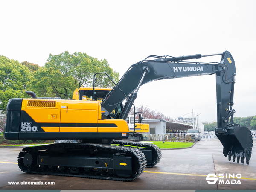
<path fill-rule="evenodd" d="M 236 124 L 237 125 L 237 124 Z M 223 154 L 228 156 L 228 160 L 239 163 L 241 157 L 241 163 L 244 163 L 246 158 L 246 164 L 249 164 L 250 157 L 253 148 L 253 137 L 251 131 L 247 127 L 240 126 L 228 126 L 223 129 L 223 133 L 220 129 L 215 128 L 215 134 L 223 145 Z"/>

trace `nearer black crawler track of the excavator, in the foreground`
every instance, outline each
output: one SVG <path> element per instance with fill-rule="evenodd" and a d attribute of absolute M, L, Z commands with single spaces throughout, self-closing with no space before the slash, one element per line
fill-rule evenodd
<path fill-rule="evenodd" d="M 90 151 L 97 150 L 98 154 L 113 154 L 122 157 L 130 157 L 133 159 L 132 163 L 132 174 L 129 176 L 118 175 L 115 173 L 114 168 L 108 167 L 109 169 L 95 169 L 91 165 L 88 166 L 60 166 L 60 164 L 54 165 L 40 165 L 41 157 L 50 158 L 47 151 L 61 151 L 62 154 L 73 154 L 72 161 L 76 162 L 77 151 Z M 61 158 L 56 153 L 52 153 L 56 158 Z M 26 156 L 25 156 L 26 155 Z M 48 155 L 48 156 L 45 156 Z M 25 156 L 25 158 L 23 158 Z M 40 159 L 39 159 L 40 157 Z M 83 157 L 83 156 L 81 156 Z M 87 161 L 87 157 L 83 157 L 84 161 Z M 104 160 L 104 156 L 101 157 Z M 24 159 L 24 160 L 23 160 Z M 42 161 L 42 160 L 41 160 Z M 77 160 L 79 161 L 79 160 Z M 113 160 L 112 160 L 113 161 Z M 24 163 L 25 162 L 25 163 Z M 80 161 L 81 162 L 81 161 Z M 114 161 L 113 161 L 114 162 Z M 18 165 L 23 172 L 32 174 L 43 174 L 43 175 L 57 175 L 66 177 L 82 177 L 91 179 L 102 179 L 102 180 L 119 180 L 119 181 L 131 181 L 139 177 L 146 166 L 145 155 L 138 149 L 133 147 L 125 146 L 111 146 L 103 144 L 80 144 L 80 143 L 59 143 L 52 145 L 44 145 L 39 147 L 27 147 L 20 151 L 18 156 Z M 107 166 L 107 165 L 106 165 Z M 114 165 L 113 165 L 114 166 Z M 72 171 L 73 170 L 73 171 Z M 74 171 L 76 170 L 76 171 Z M 102 170 L 102 171 L 99 171 Z"/>

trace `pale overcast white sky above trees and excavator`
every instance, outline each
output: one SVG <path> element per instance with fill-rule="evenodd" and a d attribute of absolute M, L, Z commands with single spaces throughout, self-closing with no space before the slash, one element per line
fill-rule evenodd
<path fill-rule="evenodd" d="M 148 55 L 212 54 L 235 63 L 234 116 L 256 115 L 255 0 L 0 0 L 0 55 L 40 66 L 49 54 L 106 59 L 120 77 Z M 200 61 L 217 61 L 214 56 Z M 215 75 L 154 81 L 134 104 L 217 120 Z"/>

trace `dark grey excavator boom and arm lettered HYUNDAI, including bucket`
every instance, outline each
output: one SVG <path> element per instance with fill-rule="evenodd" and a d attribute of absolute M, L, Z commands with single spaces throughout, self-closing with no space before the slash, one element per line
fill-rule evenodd
<path fill-rule="evenodd" d="M 221 55 L 220 62 L 187 61 L 215 55 Z M 149 59 L 152 57 L 155 59 Z M 217 93 L 218 127 L 215 128 L 215 134 L 224 146 L 223 154 L 225 157 L 228 155 L 229 160 L 233 156 L 233 161 L 237 157 L 237 162 L 241 157 L 242 163 L 244 163 L 244 158 L 246 157 L 247 164 L 249 164 L 253 143 L 250 130 L 233 123 L 233 115 L 236 112 L 232 109 L 236 67 L 235 61 L 228 51 L 212 55 L 197 54 L 181 57 L 151 55 L 145 60 L 131 65 L 116 86 L 103 99 L 101 104 L 102 111 L 105 111 L 105 116 L 108 116 L 111 111 L 124 101 L 125 95 L 129 96 L 131 102 L 134 102 L 140 86 L 148 82 L 212 74 L 216 75 Z M 122 112 L 119 116 L 116 116 L 116 119 L 126 119 L 132 107 L 130 101 L 127 100 L 125 102 Z"/>

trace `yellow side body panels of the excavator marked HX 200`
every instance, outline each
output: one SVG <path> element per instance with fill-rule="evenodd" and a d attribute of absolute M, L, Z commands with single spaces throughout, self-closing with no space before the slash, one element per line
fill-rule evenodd
<path fill-rule="evenodd" d="M 128 137 L 125 120 L 102 120 L 101 113 L 99 101 L 22 99 L 19 132 L 30 139 L 47 138 L 42 132 L 55 139 L 99 139 L 115 133 L 117 139 Z"/>

